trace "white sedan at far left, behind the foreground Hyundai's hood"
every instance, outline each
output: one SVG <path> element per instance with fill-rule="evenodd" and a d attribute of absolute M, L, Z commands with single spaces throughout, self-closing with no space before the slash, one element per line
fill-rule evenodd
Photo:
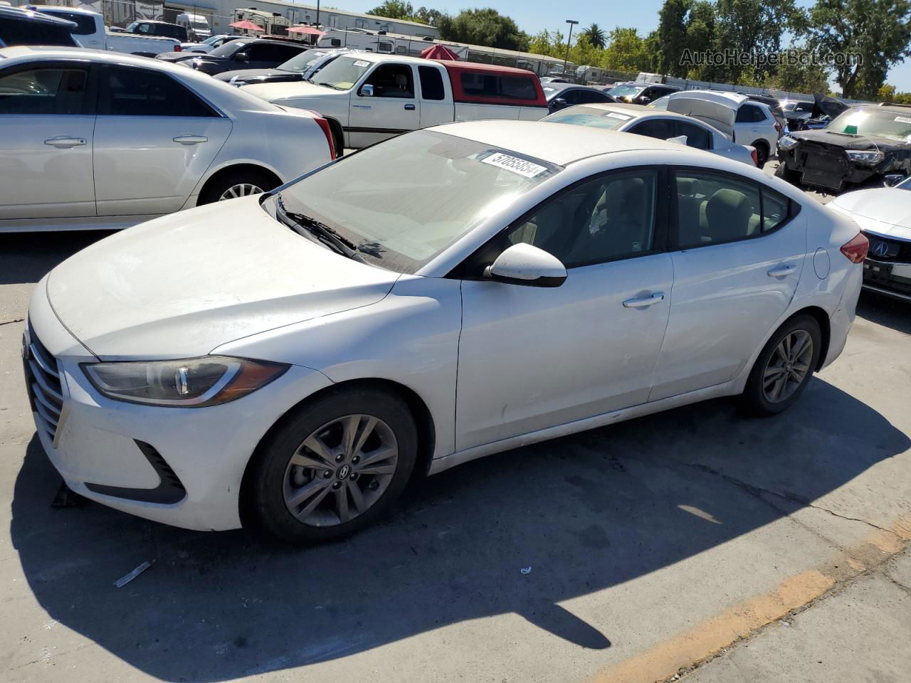
<path fill-rule="evenodd" d="M 275 188 L 333 156 L 325 119 L 191 69 L 0 49 L 0 232 L 127 228 Z"/>

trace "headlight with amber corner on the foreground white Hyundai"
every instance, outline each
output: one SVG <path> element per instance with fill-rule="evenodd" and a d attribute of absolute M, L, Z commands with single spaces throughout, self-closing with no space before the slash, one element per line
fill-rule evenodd
<path fill-rule="evenodd" d="M 179 361 L 92 362 L 82 370 L 107 398 L 172 408 L 228 403 L 255 392 L 290 366 L 226 356 Z"/>

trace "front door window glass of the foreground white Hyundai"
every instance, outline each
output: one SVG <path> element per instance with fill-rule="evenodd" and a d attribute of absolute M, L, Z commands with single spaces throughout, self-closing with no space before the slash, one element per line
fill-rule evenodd
<path fill-rule="evenodd" d="M 590 180 L 563 192 L 507 232 L 567 268 L 637 256 L 654 249 L 658 172 L 639 169 Z"/>

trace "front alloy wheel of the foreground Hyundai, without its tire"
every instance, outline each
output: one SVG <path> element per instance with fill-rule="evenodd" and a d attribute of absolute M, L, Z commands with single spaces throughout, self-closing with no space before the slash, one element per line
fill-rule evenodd
<path fill-rule="evenodd" d="M 388 424 L 344 415 L 311 433 L 285 468 L 288 511 L 305 525 L 334 526 L 363 515 L 385 493 L 398 462 Z"/>

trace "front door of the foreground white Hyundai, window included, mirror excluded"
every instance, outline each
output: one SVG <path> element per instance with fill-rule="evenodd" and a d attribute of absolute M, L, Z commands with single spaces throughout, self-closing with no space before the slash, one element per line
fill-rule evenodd
<path fill-rule="evenodd" d="M 463 281 L 457 450 L 647 401 L 673 280 L 660 176 L 640 168 L 577 184 L 466 264 L 483 272 L 528 242 L 568 278 L 552 289 Z"/>

